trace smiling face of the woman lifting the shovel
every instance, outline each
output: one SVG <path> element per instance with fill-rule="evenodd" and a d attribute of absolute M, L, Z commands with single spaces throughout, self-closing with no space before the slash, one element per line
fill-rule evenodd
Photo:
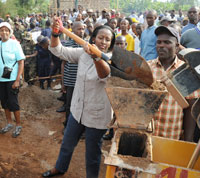
<path fill-rule="evenodd" d="M 106 28 L 99 30 L 94 43 L 102 52 L 107 52 L 112 41 L 112 32 Z"/>

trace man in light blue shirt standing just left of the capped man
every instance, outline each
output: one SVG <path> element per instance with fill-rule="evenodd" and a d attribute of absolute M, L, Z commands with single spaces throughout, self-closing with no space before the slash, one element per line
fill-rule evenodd
<path fill-rule="evenodd" d="M 157 13 L 154 10 L 148 11 L 146 15 L 147 29 L 142 32 L 140 39 L 141 56 L 148 60 L 157 58 L 156 41 L 157 37 L 154 33 L 156 26 L 154 25 Z"/>

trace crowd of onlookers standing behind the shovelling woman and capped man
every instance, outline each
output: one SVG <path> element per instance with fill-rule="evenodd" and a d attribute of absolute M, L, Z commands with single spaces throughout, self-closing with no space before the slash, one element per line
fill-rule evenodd
<path fill-rule="evenodd" d="M 84 9 L 79 5 L 77 10 L 62 10 L 54 14 L 32 13 L 26 17 L 10 17 L 8 14 L 5 19 L 0 18 L 0 22 L 8 22 L 12 26 L 13 35 L 11 38 L 17 40 L 22 46 L 26 56 L 23 78 L 29 85 L 34 84 L 34 79 L 38 76 L 41 77 L 39 80 L 40 88 L 45 88 L 44 82 L 47 80 L 47 89 L 50 90 L 52 76 L 62 74 L 63 95 L 59 99 L 64 101 L 64 105 L 58 108 L 57 112 L 68 110 L 69 115 L 70 104 L 66 109 L 66 87 L 74 86 L 77 69 L 68 62 L 63 63 L 48 50 L 53 18 L 59 17 L 66 29 L 86 41 L 89 41 L 94 29 L 101 25 L 107 25 L 113 30 L 116 37 L 125 37 L 126 50 L 135 52 L 148 61 L 158 56 L 156 51 L 157 36 L 154 32 L 160 25 L 170 26 L 178 31 L 181 44 L 179 46 L 180 50 L 183 48 L 200 49 L 199 16 L 197 7 L 189 8 L 184 14 L 181 10 L 177 12 L 170 10 L 160 14 L 150 10 L 140 13 L 133 11 L 126 16 L 115 9 L 104 8 L 101 11 L 95 11 Z M 65 34 L 60 34 L 60 39 L 64 46 L 77 47 L 77 43 L 70 42 L 71 39 Z M 74 73 L 74 76 L 71 75 L 72 73 Z M 72 93 L 68 97 L 72 97 Z"/>

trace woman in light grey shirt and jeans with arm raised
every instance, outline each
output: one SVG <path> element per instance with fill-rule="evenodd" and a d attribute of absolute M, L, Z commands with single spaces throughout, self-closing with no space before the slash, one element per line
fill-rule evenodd
<path fill-rule="evenodd" d="M 63 30 L 59 19 L 54 19 L 53 28 Z M 90 43 L 104 53 L 112 50 L 115 35 L 108 26 L 97 27 Z M 85 131 L 86 175 L 97 178 L 101 162 L 102 137 L 112 117 L 112 109 L 105 92 L 110 67 L 102 59 L 91 53 L 87 43 L 84 48 L 68 48 L 60 43 L 59 35 L 52 34 L 50 51 L 62 60 L 78 63 L 77 80 L 71 103 L 60 153 L 53 169 L 42 174 L 52 177 L 67 172 L 74 148 Z"/>

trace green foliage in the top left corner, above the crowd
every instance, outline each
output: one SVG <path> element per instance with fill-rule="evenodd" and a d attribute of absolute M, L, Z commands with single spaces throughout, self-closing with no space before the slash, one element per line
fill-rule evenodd
<path fill-rule="evenodd" d="M 0 1 L 0 16 L 5 17 L 10 14 L 11 17 L 16 15 L 24 16 L 29 13 L 48 12 L 49 0 L 7 0 Z"/>

